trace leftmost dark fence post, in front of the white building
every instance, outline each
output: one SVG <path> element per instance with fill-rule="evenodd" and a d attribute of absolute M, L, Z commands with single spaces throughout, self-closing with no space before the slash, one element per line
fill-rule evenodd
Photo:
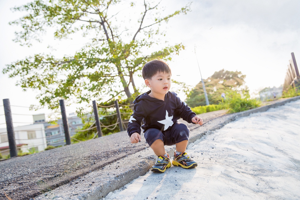
<path fill-rule="evenodd" d="M 8 145 L 9 145 L 9 153 L 10 153 L 10 157 L 12 158 L 12 157 L 16 157 L 18 155 L 18 152 L 16 147 L 15 133 L 13 131 L 13 118 L 11 117 L 9 99 L 3 99 L 3 107 L 4 107 L 4 115 L 5 115 L 5 122 L 6 122 Z"/>

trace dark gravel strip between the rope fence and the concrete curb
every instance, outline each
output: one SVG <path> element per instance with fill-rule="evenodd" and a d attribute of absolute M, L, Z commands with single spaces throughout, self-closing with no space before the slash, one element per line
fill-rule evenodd
<path fill-rule="evenodd" d="M 225 110 L 199 115 L 209 122 Z M 185 121 L 182 121 L 186 123 Z M 186 123 L 187 124 L 187 123 Z M 197 128 L 188 124 L 190 130 Z M 204 127 L 203 127 L 204 128 Z M 142 134 L 143 135 L 143 134 Z M 0 199 L 31 199 L 65 184 L 84 181 L 81 177 L 145 150 L 149 145 L 131 144 L 126 131 L 67 145 L 37 154 L 0 162 Z M 113 175 L 112 175 L 113 177 Z M 90 183 L 93 184 L 93 183 Z"/>

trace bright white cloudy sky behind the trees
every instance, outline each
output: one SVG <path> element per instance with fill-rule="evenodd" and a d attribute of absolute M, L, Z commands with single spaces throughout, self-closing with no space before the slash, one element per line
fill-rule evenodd
<path fill-rule="evenodd" d="M 14 43 L 14 31 L 19 28 L 8 25 L 8 22 L 22 14 L 13 13 L 10 8 L 25 2 L 29 0 L 0 0 L 1 71 L 6 64 L 18 59 L 39 52 L 49 52 L 46 48 L 48 45 L 57 49 L 56 55 L 72 55 L 87 41 L 78 37 L 58 41 L 49 35 L 43 43 L 35 43 L 31 48 Z M 179 9 L 188 2 L 166 0 L 162 4 L 167 5 L 165 12 L 169 14 L 168 12 Z M 201 80 L 195 45 L 203 79 L 223 68 L 238 70 L 246 75 L 246 85 L 251 93 L 283 84 L 291 52 L 295 53 L 300 65 L 299 0 L 201 0 L 194 1 L 191 9 L 187 15 L 176 16 L 164 25 L 167 34 L 163 40 L 171 45 L 183 43 L 186 46 L 185 50 L 169 62 L 174 79 L 192 86 Z M 122 13 L 128 14 L 126 10 Z M 6 98 L 10 99 L 11 105 L 29 107 L 37 104 L 37 92 L 23 92 L 19 86 L 15 86 L 16 81 L 17 79 L 9 79 L 7 74 L 0 73 L 0 105 L 3 105 L 2 99 Z M 1 116 L 4 113 L 2 108 L 0 107 L 0 124 L 5 122 L 4 116 Z M 74 111 L 74 108 L 68 109 L 70 112 Z M 44 109 L 32 112 L 24 109 L 15 112 L 37 114 L 51 111 Z M 26 120 L 32 122 L 30 117 Z"/>

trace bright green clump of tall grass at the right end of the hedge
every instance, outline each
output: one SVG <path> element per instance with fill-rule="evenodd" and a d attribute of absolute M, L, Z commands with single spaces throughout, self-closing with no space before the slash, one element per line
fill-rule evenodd
<path fill-rule="evenodd" d="M 226 99 L 223 107 L 228 109 L 229 113 L 242 112 L 245 110 L 257 108 L 260 106 L 260 101 L 251 99 L 248 91 L 226 91 Z"/>

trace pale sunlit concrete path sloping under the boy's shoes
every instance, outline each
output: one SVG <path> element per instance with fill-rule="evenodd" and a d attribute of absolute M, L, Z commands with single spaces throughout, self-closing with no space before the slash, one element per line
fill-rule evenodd
<path fill-rule="evenodd" d="M 149 171 L 103 199 L 300 199 L 300 100 L 208 131 L 187 152 L 196 168 Z"/>

